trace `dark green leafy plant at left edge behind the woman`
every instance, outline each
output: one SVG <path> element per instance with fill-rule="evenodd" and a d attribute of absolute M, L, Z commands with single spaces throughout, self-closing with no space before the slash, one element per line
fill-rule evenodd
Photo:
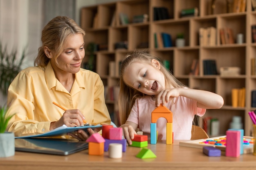
<path fill-rule="evenodd" d="M 17 50 L 7 53 L 7 46 L 3 47 L 0 42 L 0 91 L 3 96 L 7 96 L 9 85 L 21 71 L 21 65 L 25 58 L 25 50 L 23 50 L 20 59 L 17 57 Z"/>

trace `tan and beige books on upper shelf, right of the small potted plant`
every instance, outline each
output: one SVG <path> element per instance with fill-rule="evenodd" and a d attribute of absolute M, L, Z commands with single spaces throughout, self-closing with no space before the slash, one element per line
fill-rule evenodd
<path fill-rule="evenodd" d="M 216 45 L 216 28 L 211 26 L 208 28 L 199 29 L 199 44 L 200 46 L 215 46 Z"/>

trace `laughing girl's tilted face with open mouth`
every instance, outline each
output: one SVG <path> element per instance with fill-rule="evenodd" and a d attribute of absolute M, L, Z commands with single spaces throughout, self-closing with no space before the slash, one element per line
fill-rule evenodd
<path fill-rule="evenodd" d="M 158 95 L 165 88 L 165 79 L 160 71 L 160 63 L 152 60 L 152 64 L 132 62 L 124 71 L 125 84 L 146 95 Z"/>

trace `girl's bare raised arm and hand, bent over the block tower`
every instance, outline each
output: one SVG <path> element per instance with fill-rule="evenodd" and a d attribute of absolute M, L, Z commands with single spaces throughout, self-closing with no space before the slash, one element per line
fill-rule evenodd
<path fill-rule="evenodd" d="M 189 99 L 197 101 L 199 108 L 205 109 L 217 109 L 221 108 L 224 104 L 224 100 L 220 95 L 209 91 L 196 90 L 190 88 L 171 88 L 161 91 L 156 98 L 156 106 L 159 106 L 162 100 L 162 104 L 166 104 L 174 97 L 184 96 Z"/>

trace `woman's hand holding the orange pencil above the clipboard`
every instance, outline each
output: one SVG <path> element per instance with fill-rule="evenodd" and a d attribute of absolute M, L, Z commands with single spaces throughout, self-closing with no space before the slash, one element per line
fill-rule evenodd
<path fill-rule="evenodd" d="M 58 121 L 51 122 L 50 130 L 58 128 L 65 124 L 67 127 L 83 125 L 85 117 L 78 109 L 66 110 Z"/>

